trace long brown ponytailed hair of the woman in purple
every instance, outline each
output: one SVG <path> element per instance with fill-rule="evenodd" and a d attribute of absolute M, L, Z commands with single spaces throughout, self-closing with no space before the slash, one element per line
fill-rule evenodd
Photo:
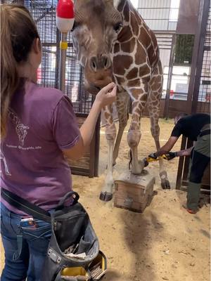
<path fill-rule="evenodd" d="M 6 136 L 8 107 L 18 89 L 18 64 L 27 61 L 37 27 L 27 8 L 15 4 L 1 5 L 1 138 Z"/>

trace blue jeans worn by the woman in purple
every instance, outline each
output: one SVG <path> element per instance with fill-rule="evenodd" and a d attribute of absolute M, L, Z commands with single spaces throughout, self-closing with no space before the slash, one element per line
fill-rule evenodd
<path fill-rule="evenodd" d="M 1 239 L 5 266 L 1 281 L 39 281 L 51 238 L 51 224 L 21 216 L 1 203 Z"/>

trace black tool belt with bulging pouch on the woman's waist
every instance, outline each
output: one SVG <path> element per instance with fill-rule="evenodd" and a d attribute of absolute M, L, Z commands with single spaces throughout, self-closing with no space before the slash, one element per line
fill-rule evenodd
<path fill-rule="evenodd" d="M 41 281 L 95 281 L 106 273 L 106 256 L 99 251 L 98 237 L 87 211 L 78 202 L 77 192 L 68 192 L 52 214 L 4 188 L 1 196 L 13 207 L 51 223 L 52 235 Z M 73 203 L 65 207 L 70 197 Z"/>

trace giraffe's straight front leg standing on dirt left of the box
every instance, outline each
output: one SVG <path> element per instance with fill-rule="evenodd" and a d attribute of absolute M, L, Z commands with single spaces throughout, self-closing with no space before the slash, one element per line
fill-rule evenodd
<path fill-rule="evenodd" d="M 113 148 L 116 138 L 116 128 L 113 123 L 112 105 L 103 108 L 103 114 L 106 119 L 106 140 L 108 143 L 108 164 L 105 183 L 101 190 L 100 200 L 110 201 L 113 197 Z"/>

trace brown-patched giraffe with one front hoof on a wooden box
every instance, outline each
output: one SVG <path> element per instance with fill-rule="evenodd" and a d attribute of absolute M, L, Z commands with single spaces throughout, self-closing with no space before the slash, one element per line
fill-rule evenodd
<path fill-rule="evenodd" d="M 113 197 L 113 165 L 129 119 L 130 100 L 132 121 L 127 143 L 132 152 L 132 174 L 139 175 L 144 168 L 143 161 L 138 159 L 138 145 L 141 139 L 141 115 L 146 105 L 155 146 L 157 150 L 160 148 L 158 118 L 162 65 L 159 48 L 155 34 L 129 0 L 75 0 L 72 41 L 79 63 L 84 67 L 84 85 L 89 93 L 98 93 L 110 81 L 117 84 L 118 132 L 113 122 L 113 106 L 103 108 L 108 165 L 100 199 L 109 201 Z M 162 160 L 160 179 L 162 188 L 170 188 Z"/>

